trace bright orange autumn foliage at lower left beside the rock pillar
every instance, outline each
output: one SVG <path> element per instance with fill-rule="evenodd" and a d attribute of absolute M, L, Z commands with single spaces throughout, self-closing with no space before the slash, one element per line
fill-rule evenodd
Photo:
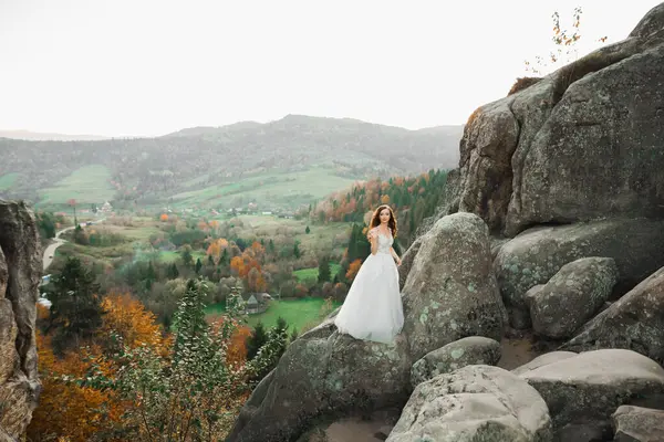
<path fill-rule="evenodd" d="M 145 309 L 139 301 L 128 294 L 111 294 L 102 301 L 106 312 L 98 330 L 98 344 L 105 344 L 112 330 L 117 332 L 129 347 L 148 345 L 166 351 L 170 341 L 162 336 L 155 315 Z M 40 318 L 49 311 L 38 306 Z M 93 440 L 95 434 L 118 423 L 128 404 L 113 397 L 113 392 L 80 387 L 61 380 L 61 376 L 81 378 L 91 368 L 94 359 L 104 375 L 113 377 L 116 367 L 103 357 L 102 346 L 89 343 L 89 347 L 63 358 L 53 355 L 51 337 L 37 332 L 40 377 L 43 390 L 35 409 L 28 435 L 30 440 L 64 438 L 71 442 Z"/>

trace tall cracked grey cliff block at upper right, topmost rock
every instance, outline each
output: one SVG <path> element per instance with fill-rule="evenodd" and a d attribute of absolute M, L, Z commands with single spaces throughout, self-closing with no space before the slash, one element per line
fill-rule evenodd
<path fill-rule="evenodd" d="M 662 11 L 626 40 L 478 108 L 452 207 L 509 236 L 539 223 L 663 218 Z"/>

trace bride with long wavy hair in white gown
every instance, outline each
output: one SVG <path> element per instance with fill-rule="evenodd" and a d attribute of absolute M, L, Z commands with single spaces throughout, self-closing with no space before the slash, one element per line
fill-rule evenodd
<path fill-rule="evenodd" d="M 360 267 L 334 325 L 355 339 L 390 344 L 404 325 L 396 269 L 401 259 L 392 248 L 396 236 L 392 208 L 378 207 L 369 228 L 371 255 Z"/>

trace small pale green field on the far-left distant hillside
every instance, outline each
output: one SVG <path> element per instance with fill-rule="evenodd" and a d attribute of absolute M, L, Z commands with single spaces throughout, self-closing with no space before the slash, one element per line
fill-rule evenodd
<path fill-rule="evenodd" d="M 112 200 L 115 189 L 111 186 L 111 171 L 104 166 L 85 166 L 76 169 L 69 177 L 54 183 L 53 187 L 39 191 L 40 201 L 35 207 L 62 208 L 70 199 L 80 206 L 101 204 Z"/>

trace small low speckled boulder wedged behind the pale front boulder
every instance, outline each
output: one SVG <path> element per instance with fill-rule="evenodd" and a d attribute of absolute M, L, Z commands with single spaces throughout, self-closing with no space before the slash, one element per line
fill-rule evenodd
<path fill-rule="evenodd" d="M 469 336 L 437 350 L 427 352 L 413 364 L 411 385 L 413 387 L 438 375 L 475 365 L 495 366 L 500 360 L 500 343 L 483 336 Z"/>

